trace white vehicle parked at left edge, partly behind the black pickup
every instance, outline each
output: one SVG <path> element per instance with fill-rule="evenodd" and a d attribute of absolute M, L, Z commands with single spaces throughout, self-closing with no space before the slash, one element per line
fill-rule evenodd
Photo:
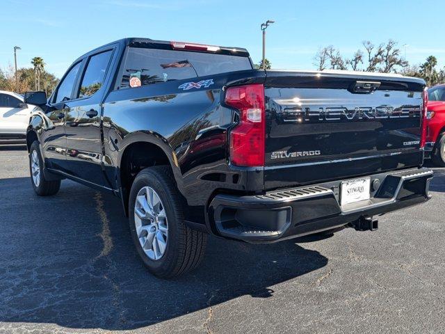
<path fill-rule="evenodd" d="M 25 139 L 34 108 L 34 105 L 23 102 L 22 95 L 0 90 L 0 141 Z"/>

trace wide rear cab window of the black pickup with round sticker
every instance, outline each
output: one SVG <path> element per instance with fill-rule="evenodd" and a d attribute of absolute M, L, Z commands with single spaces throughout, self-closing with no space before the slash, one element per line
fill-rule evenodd
<path fill-rule="evenodd" d="M 118 88 L 241 70 L 252 70 L 248 57 L 129 47 Z"/>

